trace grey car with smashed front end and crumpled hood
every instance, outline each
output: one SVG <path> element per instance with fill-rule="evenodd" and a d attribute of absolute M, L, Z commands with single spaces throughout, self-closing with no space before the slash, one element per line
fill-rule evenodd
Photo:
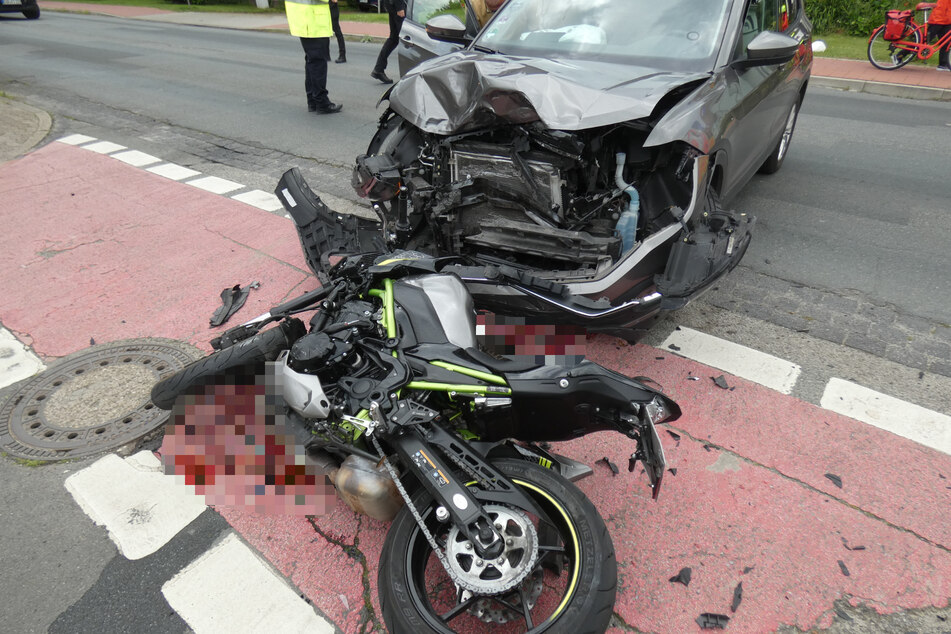
<path fill-rule="evenodd" d="M 315 270 L 373 244 L 456 256 L 480 308 L 635 340 L 743 257 L 754 217 L 725 204 L 788 152 L 802 0 L 508 0 L 474 38 L 426 29 L 465 46 L 384 95 L 352 183 L 379 222 L 278 187 Z"/>

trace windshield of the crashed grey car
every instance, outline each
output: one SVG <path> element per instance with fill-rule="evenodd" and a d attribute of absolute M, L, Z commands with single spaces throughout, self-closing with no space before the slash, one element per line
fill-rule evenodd
<path fill-rule="evenodd" d="M 731 0 L 508 0 L 474 45 L 507 55 L 707 71 Z"/>

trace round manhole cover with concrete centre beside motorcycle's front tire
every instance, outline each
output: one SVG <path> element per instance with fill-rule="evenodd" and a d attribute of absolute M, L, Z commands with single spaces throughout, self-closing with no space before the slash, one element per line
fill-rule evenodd
<path fill-rule="evenodd" d="M 201 353 L 170 339 L 134 339 L 64 357 L 27 381 L 0 409 L 0 449 L 63 460 L 111 451 L 168 419 L 149 396 L 157 381 Z"/>

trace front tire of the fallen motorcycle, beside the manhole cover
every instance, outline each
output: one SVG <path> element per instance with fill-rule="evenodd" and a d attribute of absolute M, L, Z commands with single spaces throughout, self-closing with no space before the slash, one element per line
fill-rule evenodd
<path fill-rule="evenodd" d="M 224 374 L 235 368 L 271 361 L 281 350 L 293 343 L 297 338 L 294 335 L 299 336 L 298 333 L 303 328 L 299 320 L 290 320 L 277 328 L 265 330 L 229 348 L 199 359 L 167 379 L 156 383 L 152 388 L 152 403 L 160 409 L 171 410 L 175 405 L 175 399 L 207 378 Z"/>

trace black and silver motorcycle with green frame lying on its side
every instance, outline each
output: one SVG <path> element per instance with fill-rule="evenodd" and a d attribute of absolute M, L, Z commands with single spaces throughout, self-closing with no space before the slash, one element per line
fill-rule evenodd
<path fill-rule="evenodd" d="M 215 352 L 156 384 L 152 401 L 171 409 L 216 377 L 268 364 L 287 421 L 332 466 L 340 497 L 392 520 L 379 565 L 389 631 L 604 631 L 614 548 L 572 483 L 591 469 L 546 443 L 623 434 L 636 443 L 629 469 L 643 463 L 656 499 L 656 425 L 680 409 L 590 361 L 481 350 L 457 273 L 466 268 L 413 252 L 344 257 L 320 288 L 225 332 Z M 297 315 L 308 311 L 305 325 Z"/>

